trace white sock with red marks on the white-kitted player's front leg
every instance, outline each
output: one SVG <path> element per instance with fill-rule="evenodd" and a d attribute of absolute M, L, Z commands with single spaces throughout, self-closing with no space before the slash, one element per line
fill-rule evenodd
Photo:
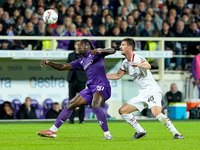
<path fill-rule="evenodd" d="M 122 114 L 121 116 L 136 130 L 137 133 L 144 132 L 144 129 L 140 126 L 132 114 Z"/>

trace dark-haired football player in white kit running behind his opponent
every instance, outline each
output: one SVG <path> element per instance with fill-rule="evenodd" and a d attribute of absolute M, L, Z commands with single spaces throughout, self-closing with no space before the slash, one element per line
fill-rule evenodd
<path fill-rule="evenodd" d="M 152 114 L 172 132 L 174 139 L 184 139 L 184 136 L 177 131 L 170 119 L 161 112 L 162 93 L 149 71 L 151 65 L 145 58 L 135 54 L 134 48 L 135 41 L 132 38 L 123 39 L 120 49 L 121 54 L 126 59 L 117 73 L 107 74 L 109 80 L 118 80 L 128 73 L 140 87 L 138 96 L 130 99 L 119 109 L 122 118 L 136 130 L 132 139 L 139 139 L 146 136 L 147 133 L 131 113 L 137 110 L 142 111 L 147 106 L 151 109 Z"/>

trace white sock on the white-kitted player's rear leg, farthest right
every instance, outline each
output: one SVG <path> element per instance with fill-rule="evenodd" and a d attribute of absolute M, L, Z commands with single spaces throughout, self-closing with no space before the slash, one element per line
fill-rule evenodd
<path fill-rule="evenodd" d="M 176 130 L 176 128 L 174 127 L 173 123 L 170 121 L 170 119 L 164 115 L 163 113 L 159 114 L 156 117 L 173 135 L 175 134 L 179 134 L 180 133 Z"/>

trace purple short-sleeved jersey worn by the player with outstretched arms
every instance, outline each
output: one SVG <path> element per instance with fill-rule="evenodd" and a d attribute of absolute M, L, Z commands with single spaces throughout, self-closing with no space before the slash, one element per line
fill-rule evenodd
<path fill-rule="evenodd" d="M 110 86 L 104 69 L 104 57 L 104 53 L 91 55 L 86 52 L 86 57 L 79 58 L 70 64 L 73 69 L 85 70 L 88 77 L 88 87 L 90 85 Z"/>

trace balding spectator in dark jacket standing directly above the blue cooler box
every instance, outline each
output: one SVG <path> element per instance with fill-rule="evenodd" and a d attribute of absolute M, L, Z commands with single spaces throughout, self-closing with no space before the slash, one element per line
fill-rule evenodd
<path fill-rule="evenodd" d="M 182 20 L 177 21 L 176 30 L 174 32 L 175 37 L 187 37 L 187 32 L 184 30 L 185 24 Z M 183 55 L 187 53 L 188 42 L 177 41 L 176 42 L 176 55 Z M 185 67 L 185 59 L 181 57 L 176 58 L 176 69 L 182 70 Z"/>

